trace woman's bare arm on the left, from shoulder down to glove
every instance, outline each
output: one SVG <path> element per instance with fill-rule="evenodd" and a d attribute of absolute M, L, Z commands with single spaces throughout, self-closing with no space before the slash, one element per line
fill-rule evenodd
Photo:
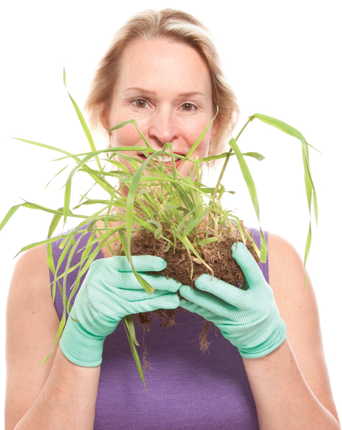
<path fill-rule="evenodd" d="M 56 345 L 59 326 L 51 298 L 46 246 L 15 265 L 6 311 L 5 428 L 92 429 L 100 366 L 70 362 Z"/>

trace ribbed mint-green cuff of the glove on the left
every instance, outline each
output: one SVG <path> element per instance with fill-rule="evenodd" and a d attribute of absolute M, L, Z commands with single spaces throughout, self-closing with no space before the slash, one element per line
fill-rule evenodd
<path fill-rule="evenodd" d="M 105 336 L 89 333 L 80 322 L 68 318 L 59 341 L 59 347 L 66 358 L 83 367 L 96 367 L 102 362 Z"/>

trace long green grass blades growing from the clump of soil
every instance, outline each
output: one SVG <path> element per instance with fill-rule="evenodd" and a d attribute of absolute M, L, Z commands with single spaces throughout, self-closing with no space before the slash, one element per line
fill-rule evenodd
<path fill-rule="evenodd" d="M 63 80 L 65 84 L 65 72 L 63 73 Z M 65 197 L 63 206 L 59 207 L 58 209 L 50 209 L 43 207 L 39 204 L 31 203 L 24 200 L 25 203 L 20 203 L 18 205 L 12 206 L 12 208 L 9 209 L 8 213 L 6 214 L 5 218 L 0 223 L 1 230 L 4 225 L 9 221 L 9 218 L 11 218 L 13 213 L 21 206 L 30 209 L 39 209 L 44 212 L 49 212 L 53 214 L 52 221 L 50 223 L 49 231 L 47 234 L 47 239 L 37 243 L 31 243 L 30 245 L 23 247 L 18 252 L 18 254 L 20 254 L 21 252 L 33 248 L 34 246 L 46 243 L 47 263 L 55 277 L 54 281 L 52 282 L 52 298 L 53 300 L 55 299 L 56 289 L 58 286 L 59 292 L 63 298 L 64 307 L 63 316 L 59 325 L 58 332 L 55 336 L 53 347 L 55 347 L 55 344 L 64 329 L 66 313 L 70 313 L 71 311 L 70 301 L 71 298 L 77 293 L 77 290 L 80 286 L 80 279 L 86 273 L 90 264 L 92 264 L 96 255 L 99 253 L 100 249 L 103 246 L 107 246 L 108 249 L 112 252 L 110 243 L 120 240 L 122 249 L 132 266 L 132 270 L 135 273 L 135 276 L 137 277 L 143 288 L 149 294 L 153 293 L 154 289 L 148 284 L 147 281 L 145 281 L 145 279 L 142 278 L 142 276 L 139 275 L 139 273 L 136 272 L 132 263 L 130 244 L 132 232 L 135 230 L 149 230 L 151 234 L 154 235 L 155 239 L 163 239 L 166 244 L 165 252 L 169 251 L 169 249 L 175 250 L 176 244 L 181 243 L 186 252 L 188 253 L 191 261 L 191 279 L 193 276 L 193 261 L 197 264 L 203 264 L 207 269 L 210 270 L 212 276 L 214 275 L 210 265 L 208 265 L 206 261 L 201 258 L 197 250 L 199 247 L 205 247 L 210 243 L 215 243 L 216 241 L 218 241 L 221 237 L 223 228 L 228 229 L 231 234 L 233 234 L 233 232 L 236 232 L 237 229 L 240 233 L 241 240 L 244 243 L 246 243 L 246 240 L 251 243 L 256 254 L 259 256 L 260 261 L 266 261 L 267 245 L 259 221 L 259 201 L 257 198 L 256 187 L 253 178 L 250 174 L 250 170 L 248 169 L 245 160 L 245 157 L 253 157 L 261 161 L 265 157 L 263 157 L 257 152 L 241 153 L 240 148 L 237 145 L 237 140 L 240 137 L 241 132 L 243 132 L 245 127 L 254 119 L 258 119 L 266 124 L 280 129 L 282 132 L 285 132 L 297 138 L 302 144 L 305 190 L 310 214 L 310 223 L 304 256 L 304 281 L 306 288 L 305 265 L 311 245 L 311 202 L 313 200 L 314 216 L 317 225 L 317 197 L 311 177 L 311 169 L 309 164 L 308 146 L 311 145 L 308 144 L 304 136 L 298 130 L 275 118 L 268 117 L 263 114 L 254 114 L 248 118 L 246 124 L 238 133 L 237 137 L 230 139 L 230 150 L 228 152 L 225 152 L 223 154 L 211 155 L 210 157 L 203 157 L 200 159 L 198 158 L 198 156 L 196 156 L 193 160 L 191 156 L 194 153 L 198 144 L 200 144 L 200 141 L 202 140 L 206 131 L 213 123 L 215 119 L 214 117 L 213 120 L 211 120 L 210 123 L 206 126 L 206 129 L 203 130 L 201 135 L 194 142 L 194 145 L 191 147 L 188 154 L 186 154 L 186 156 L 181 156 L 177 154 L 178 158 L 183 159 L 181 165 L 185 163 L 185 161 L 190 162 L 189 175 L 185 177 L 179 173 L 179 168 L 176 169 L 175 156 L 172 151 L 172 144 L 166 143 L 159 151 L 154 150 L 146 140 L 145 136 L 139 129 L 139 126 L 134 119 L 120 123 L 117 126 L 114 126 L 110 130 L 108 130 L 108 132 L 112 132 L 116 129 L 124 127 L 129 123 L 134 124 L 134 126 L 136 127 L 136 131 L 139 133 L 142 139 L 141 146 L 114 147 L 109 150 L 96 150 L 94 141 L 89 132 L 88 126 L 86 125 L 86 122 L 80 112 L 80 109 L 78 108 L 76 102 L 71 97 L 71 95 L 69 93 L 68 95 L 74 105 L 77 116 L 86 134 L 91 151 L 84 152 L 82 154 L 71 154 L 68 151 L 57 147 L 52 147 L 46 144 L 29 141 L 26 139 L 18 139 L 29 144 L 38 145 L 40 147 L 45 147 L 47 149 L 58 151 L 64 154 L 64 157 L 58 158 L 57 160 L 74 160 L 76 166 L 74 166 L 74 168 L 69 173 L 64 185 Z M 122 154 L 123 152 L 127 151 L 141 151 L 145 154 L 146 159 L 141 160 L 139 158 L 134 158 L 126 154 Z M 114 168 L 114 170 L 110 170 L 109 172 L 105 172 L 104 167 L 102 167 L 100 162 L 103 160 L 100 157 L 102 157 L 102 155 L 107 152 L 110 152 L 111 156 L 108 160 L 105 160 L 105 162 L 110 163 L 111 165 L 113 165 Z M 132 166 L 132 169 L 128 169 L 126 166 L 119 163 L 115 159 L 115 155 L 120 155 L 120 157 L 128 161 L 130 166 Z M 156 157 L 161 157 L 163 159 L 165 155 L 169 155 L 172 157 L 171 165 L 166 166 L 164 163 L 156 162 Z M 236 215 L 233 215 L 231 210 L 223 209 L 221 204 L 221 199 L 225 192 L 234 193 L 234 191 L 226 191 L 224 185 L 221 184 L 222 176 L 225 172 L 228 161 L 231 157 L 234 156 L 237 157 L 237 161 L 243 174 L 243 178 L 248 187 L 250 197 L 259 221 L 261 237 L 260 250 L 256 246 L 256 243 L 254 243 L 253 238 L 250 236 L 250 233 L 243 226 L 243 221 Z M 200 166 L 202 163 L 218 159 L 224 159 L 219 179 L 215 187 L 207 187 L 205 184 L 202 184 L 200 182 Z M 97 168 L 92 168 L 89 166 L 89 163 L 91 161 L 96 162 Z M 55 175 L 55 177 L 62 173 L 62 171 L 66 167 L 67 166 L 60 170 Z M 87 194 L 92 189 L 92 187 L 94 186 L 93 185 L 85 193 L 80 194 L 81 199 L 79 203 L 77 204 L 77 206 L 74 206 L 71 209 L 70 202 L 72 179 L 77 172 L 85 172 L 90 175 L 90 177 L 94 181 L 94 185 L 97 184 L 98 186 L 102 187 L 103 190 L 105 190 L 108 194 L 108 198 L 96 200 L 87 197 Z M 119 186 L 117 186 L 117 184 L 113 186 L 110 182 L 111 180 L 115 180 L 117 184 L 119 184 Z M 46 185 L 46 187 L 49 185 L 49 183 Z M 128 187 L 129 189 L 127 196 L 121 192 L 124 186 Z M 151 190 L 154 190 L 154 192 L 151 192 Z M 103 205 L 103 207 L 101 210 L 91 215 L 74 212 L 80 208 L 84 209 L 83 206 L 88 207 L 92 204 L 101 204 Z M 125 208 L 125 213 L 112 212 L 113 206 Z M 106 214 L 101 215 L 101 213 L 106 209 Z M 72 231 L 66 234 L 60 234 L 57 237 L 52 237 L 57 225 L 59 224 L 59 221 L 63 218 L 64 227 L 68 217 L 80 218 L 81 221 Z M 101 234 L 99 237 L 96 237 L 96 231 L 100 231 L 100 229 L 93 228 L 97 221 L 104 222 L 106 232 L 105 234 Z M 110 223 L 117 221 L 120 222 L 119 227 L 112 228 L 110 226 Z M 82 230 L 82 227 L 88 223 L 88 227 Z M 137 226 L 136 229 L 133 229 L 133 224 Z M 86 246 L 81 249 L 83 252 L 80 259 L 80 263 L 70 267 L 71 258 L 74 255 L 75 250 L 77 249 L 78 243 L 84 235 L 89 233 L 89 231 L 92 231 L 92 234 L 90 235 Z M 77 240 L 77 242 L 74 239 L 76 233 L 81 233 L 80 238 Z M 60 240 L 61 238 L 63 240 L 60 245 L 60 248 L 63 249 L 63 252 L 61 257 L 59 258 L 57 267 L 54 267 L 51 243 Z M 97 244 L 96 249 L 91 252 L 92 246 L 94 244 Z M 60 276 L 56 276 L 56 273 L 58 272 L 58 269 L 68 252 L 69 255 L 65 272 Z M 67 275 L 74 270 L 78 270 L 77 279 L 72 286 L 71 294 L 68 298 L 66 295 Z M 139 344 L 136 341 L 132 315 L 123 318 L 123 323 L 129 341 L 129 346 L 132 351 L 132 355 L 134 357 L 134 360 L 136 362 L 137 368 L 139 370 L 146 389 L 142 367 L 140 364 L 138 353 L 136 351 L 136 345 Z M 50 351 L 49 355 L 51 354 L 51 352 L 52 351 Z M 43 360 L 43 362 L 48 359 L 49 355 Z M 41 364 L 43 364 L 43 362 Z"/>

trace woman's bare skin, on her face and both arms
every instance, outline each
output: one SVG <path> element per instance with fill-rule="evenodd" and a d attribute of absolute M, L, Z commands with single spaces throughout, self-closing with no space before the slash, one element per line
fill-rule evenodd
<path fill-rule="evenodd" d="M 124 95 L 132 87 L 143 91 L 129 90 Z M 132 43 L 125 51 L 124 68 L 113 91 L 108 122 L 103 119 L 105 129 L 135 117 L 156 149 L 170 141 L 175 152 L 187 152 L 213 117 L 206 65 L 196 51 L 182 44 Z M 180 95 L 184 92 L 203 95 L 184 98 Z M 132 100 L 136 99 L 144 99 L 148 107 L 135 107 Z M 184 103 L 198 109 L 184 112 L 180 109 Z M 197 147 L 199 157 L 207 154 L 214 132 L 214 128 L 208 130 Z M 113 140 L 116 146 L 140 144 L 131 125 L 113 133 Z M 103 227 L 103 223 L 97 225 Z M 106 247 L 102 251 L 105 257 L 111 256 Z M 290 243 L 272 233 L 268 236 L 268 259 L 269 282 L 287 325 L 287 339 L 265 357 L 243 359 L 260 429 L 340 429 L 310 278 L 307 274 L 305 291 L 300 256 Z M 16 263 L 7 301 L 6 430 L 93 428 L 100 366 L 75 365 L 56 347 L 39 367 L 59 326 L 46 288 L 49 283 L 46 246 L 29 249 Z"/>

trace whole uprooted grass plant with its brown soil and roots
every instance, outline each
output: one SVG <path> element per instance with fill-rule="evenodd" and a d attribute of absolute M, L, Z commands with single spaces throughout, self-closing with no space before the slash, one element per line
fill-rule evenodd
<path fill-rule="evenodd" d="M 257 262 L 265 262 L 267 255 L 266 240 L 260 226 L 261 247 L 259 250 L 256 243 L 253 241 L 251 232 L 243 226 L 243 221 L 234 215 L 232 210 L 223 209 L 221 205 L 223 194 L 225 192 L 234 194 L 234 191 L 226 191 L 225 187 L 221 184 L 221 179 L 230 158 L 233 156 L 237 157 L 237 161 L 243 174 L 243 178 L 246 181 L 259 221 L 259 202 L 256 194 L 256 187 L 244 157 L 254 157 L 259 161 L 263 160 L 264 157 L 256 152 L 243 154 L 237 146 L 237 140 L 240 137 L 241 132 L 243 132 L 247 124 L 252 122 L 255 118 L 271 126 L 277 127 L 281 131 L 293 137 L 296 137 L 302 144 L 305 190 L 310 213 L 310 224 L 304 257 L 304 280 L 306 287 L 305 264 L 311 244 L 311 199 L 314 204 L 314 214 L 317 224 L 317 198 L 309 164 L 308 146 L 311 145 L 307 143 L 304 136 L 298 130 L 275 118 L 262 114 L 254 114 L 248 118 L 246 124 L 238 133 L 237 137 L 230 139 L 230 150 L 228 152 L 210 155 L 209 157 L 203 157 L 201 159 L 196 156 L 194 160 L 191 159 L 191 155 L 195 151 L 197 145 L 213 123 L 215 119 L 214 117 L 194 142 L 194 145 L 191 147 L 188 154 L 185 156 L 177 154 L 177 159 L 182 161 L 179 163 L 177 160 L 176 167 L 176 157 L 172 151 L 172 144 L 166 143 L 159 151 L 152 149 L 134 119 L 120 123 L 108 130 L 108 132 L 113 132 L 120 127 L 132 123 L 136 127 L 136 130 L 142 139 L 142 145 L 140 147 L 114 147 L 109 150 L 96 150 L 94 141 L 80 109 L 77 107 L 76 102 L 70 94 L 69 97 L 86 134 L 91 149 L 90 152 L 71 154 L 68 151 L 57 147 L 25 139 L 18 139 L 50 150 L 59 151 L 65 155 L 57 160 L 72 159 L 76 162 L 76 166 L 71 169 L 64 185 L 64 205 L 59 207 L 59 209 L 50 209 L 24 200 L 25 203 L 12 206 L 3 221 L 0 223 L 1 230 L 20 206 L 39 209 L 53 214 L 47 239 L 25 246 L 18 252 L 19 254 L 20 252 L 43 243 L 46 243 L 47 245 L 47 263 L 55 276 L 52 283 L 52 297 L 54 300 L 56 287 L 58 286 L 58 289 L 62 294 L 64 305 L 63 317 L 60 322 L 53 347 L 62 334 L 66 321 L 66 313 L 70 313 L 71 311 L 70 301 L 77 293 L 80 286 L 81 276 L 83 276 L 86 270 L 88 270 L 96 255 L 104 246 L 108 247 L 108 250 L 112 255 L 126 255 L 135 276 L 149 294 L 153 294 L 154 289 L 134 269 L 132 255 L 157 255 L 162 257 L 166 260 L 167 267 L 162 272 L 158 272 L 158 274 L 172 277 L 183 285 L 190 285 L 192 288 L 196 288 L 194 280 L 197 276 L 200 276 L 203 273 L 210 273 L 212 277 L 216 276 L 237 288 L 248 288 L 245 283 L 242 270 L 237 262 L 231 257 L 231 246 L 234 242 L 242 241 Z M 127 151 L 139 151 L 142 156 L 139 158 L 130 157 L 129 155 L 126 155 Z M 104 153 L 108 152 L 110 152 L 111 155 L 108 160 L 105 160 L 106 164 L 110 163 L 114 168 L 114 170 L 110 170 L 109 172 L 104 170 L 104 167 L 102 167 L 100 163 L 100 160 L 103 159 L 99 158 L 102 157 Z M 127 160 L 131 168 L 128 169 L 126 166 L 119 163 L 115 159 L 116 154 Z M 207 187 L 205 184 L 200 182 L 200 166 L 202 163 L 219 159 L 224 159 L 224 163 L 217 184 L 215 187 Z M 185 161 L 190 162 L 189 175 L 186 177 L 179 173 L 179 167 L 182 166 Z M 90 167 L 90 163 L 96 163 L 96 166 Z M 66 167 L 68 166 L 65 166 L 65 168 Z M 65 168 L 60 170 L 55 176 L 59 175 Z M 81 199 L 79 203 L 71 209 L 71 183 L 76 172 L 87 173 L 90 175 L 95 182 L 94 185 L 99 185 L 106 191 L 106 193 L 108 193 L 108 198 L 100 200 L 87 197 L 87 194 L 89 194 L 94 187 L 93 185 L 85 193 L 80 194 Z M 110 180 L 113 179 L 117 182 L 114 186 L 110 183 Z M 128 188 L 127 196 L 122 192 L 123 187 Z M 83 209 L 83 206 L 85 205 L 88 206 L 92 204 L 100 204 L 102 205 L 102 208 L 92 215 L 76 214 L 74 212 L 81 207 Z M 121 208 L 123 209 L 123 212 L 113 212 L 113 208 Z M 101 215 L 104 209 L 107 210 L 107 212 L 105 215 Z M 66 234 L 60 234 L 57 237 L 52 237 L 52 234 L 62 217 L 63 228 L 67 217 L 80 218 L 81 221 L 72 231 Z M 98 227 L 93 228 L 97 221 L 104 222 L 106 231 L 106 233 L 100 234 L 99 237 L 96 237 L 96 231 L 101 231 L 102 229 Z M 119 223 L 119 226 L 113 228 L 111 226 L 111 222 Z M 88 223 L 89 225 L 86 229 L 82 228 Z M 70 267 L 71 258 L 74 255 L 78 243 L 81 238 L 90 231 L 92 234 L 90 235 L 86 246 L 82 249 L 83 252 L 80 263 Z M 76 241 L 74 237 L 77 233 L 81 234 L 80 238 Z M 61 238 L 63 238 L 63 240 L 60 248 L 63 249 L 63 252 L 59 258 L 57 267 L 54 267 L 51 243 Z M 110 247 L 111 243 L 114 243 L 115 252 L 113 252 Z M 119 244 L 115 245 L 116 243 Z M 96 249 L 91 252 L 94 244 L 97 245 Z M 60 276 L 56 276 L 56 273 L 68 252 L 69 255 L 65 272 Z M 77 279 L 72 286 L 70 297 L 68 298 L 66 296 L 66 279 L 67 274 L 73 270 L 77 270 L 78 274 Z M 181 296 L 179 295 L 179 297 Z M 182 298 L 182 300 L 186 299 Z M 178 309 L 185 312 L 182 308 Z M 154 312 L 136 314 L 134 315 L 134 319 L 143 326 L 145 333 L 145 328 L 149 331 L 149 325 L 153 322 L 153 319 L 156 316 L 160 316 L 161 318 L 160 325 L 169 327 L 173 326 L 175 323 L 174 314 L 174 309 L 166 310 L 166 313 L 160 309 Z M 206 333 L 210 326 L 210 322 L 206 320 L 204 321 L 203 331 L 200 333 L 200 348 L 203 352 L 209 345 L 206 341 Z M 136 340 L 133 316 L 129 315 L 123 318 L 123 325 L 133 358 L 145 385 L 144 372 L 136 350 L 136 345 L 139 345 L 139 343 Z M 51 352 L 52 351 L 50 351 L 49 355 Z M 145 353 L 143 357 L 144 371 L 146 366 Z M 43 362 L 48 359 L 49 355 L 43 360 Z M 43 362 L 41 364 L 43 364 Z"/>

